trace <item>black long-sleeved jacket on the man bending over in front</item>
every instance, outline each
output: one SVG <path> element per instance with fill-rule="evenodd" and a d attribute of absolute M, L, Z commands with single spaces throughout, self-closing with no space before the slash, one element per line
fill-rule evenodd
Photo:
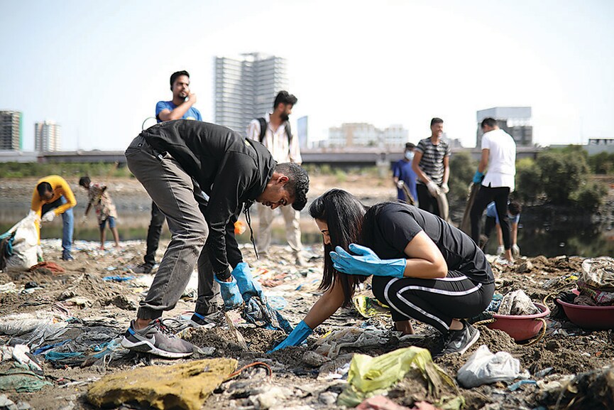
<path fill-rule="evenodd" d="M 270 152 L 225 126 L 185 119 L 161 122 L 143 136 L 155 150 L 170 153 L 209 195 L 207 248 L 214 272 L 225 271 L 226 227 L 243 203 L 264 192 L 276 164 Z"/>

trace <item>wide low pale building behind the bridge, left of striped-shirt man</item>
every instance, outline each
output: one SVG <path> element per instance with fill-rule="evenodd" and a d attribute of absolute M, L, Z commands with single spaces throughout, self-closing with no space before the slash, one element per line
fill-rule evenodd
<path fill-rule="evenodd" d="M 378 129 L 366 122 L 346 123 L 329 128 L 328 146 L 401 147 L 409 142 L 409 131 L 402 125 Z"/>

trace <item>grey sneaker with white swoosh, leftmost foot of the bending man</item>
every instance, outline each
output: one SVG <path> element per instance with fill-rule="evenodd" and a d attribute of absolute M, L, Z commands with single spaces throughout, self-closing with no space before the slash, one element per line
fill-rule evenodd
<path fill-rule="evenodd" d="M 152 320 L 146 328 L 140 330 L 135 330 L 133 326 L 134 320 L 121 340 L 121 345 L 130 350 L 170 359 L 190 356 L 194 352 L 194 346 L 190 342 L 163 333 L 165 328 L 159 319 Z"/>

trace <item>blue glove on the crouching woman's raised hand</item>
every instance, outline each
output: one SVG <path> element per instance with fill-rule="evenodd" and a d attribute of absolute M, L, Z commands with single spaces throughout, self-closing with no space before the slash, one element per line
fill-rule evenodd
<path fill-rule="evenodd" d="M 331 259 L 336 270 L 350 275 L 403 277 L 407 260 L 380 259 L 368 247 L 357 244 L 350 244 L 349 249 L 358 256 L 347 253 L 341 247 L 336 247 L 335 251 L 331 252 Z"/>

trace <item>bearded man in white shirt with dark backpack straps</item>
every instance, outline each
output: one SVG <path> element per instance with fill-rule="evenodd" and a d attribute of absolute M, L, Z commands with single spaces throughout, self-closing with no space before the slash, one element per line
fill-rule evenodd
<path fill-rule="evenodd" d="M 273 155 L 278 163 L 293 162 L 300 165 L 300 145 L 297 138 L 292 136 L 290 122 L 292 107 L 297 103 L 297 97 L 287 91 L 280 91 L 273 103 L 273 112 L 263 118 L 253 119 L 247 127 L 247 136 L 250 139 L 260 141 Z M 285 233 L 287 243 L 292 248 L 296 264 L 305 266 L 305 259 L 301 254 L 302 244 L 300 240 L 300 212 L 294 209 L 280 207 L 285 220 Z M 258 237 L 256 248 L 258 254 L 268 256 L 270 247 L 270 225 L 273 222 L 275 211 L 269 207 L 258 205 Z"/>

